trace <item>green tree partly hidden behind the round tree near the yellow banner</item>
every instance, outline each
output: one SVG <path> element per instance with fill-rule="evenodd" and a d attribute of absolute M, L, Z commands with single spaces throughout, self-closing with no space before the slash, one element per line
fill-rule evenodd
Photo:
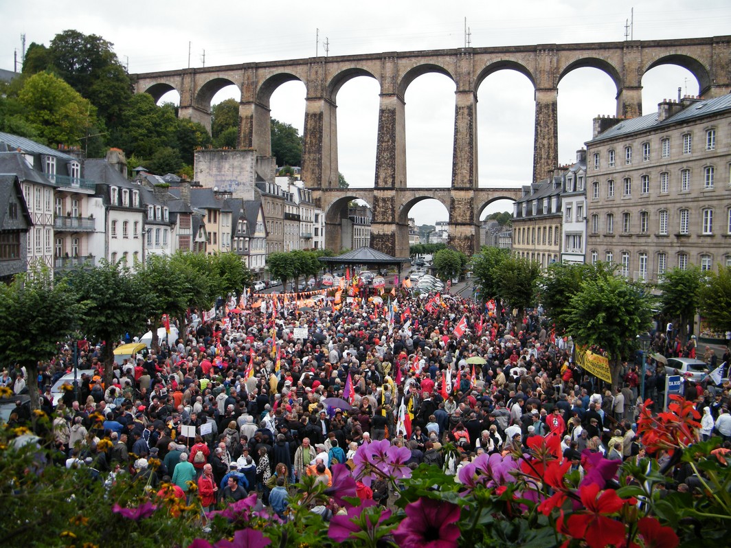
<path fill-rule="evenodd" d="M 584 280 L 606 278 L 613 275 L 612 265 L 597 262 L 596 265 L 554 262 L 548 266 L 538 281 L 537 298 L 558 333 L 566 330 L 565 316 L 569 311 L 569 300 L 580 289 Z"/>

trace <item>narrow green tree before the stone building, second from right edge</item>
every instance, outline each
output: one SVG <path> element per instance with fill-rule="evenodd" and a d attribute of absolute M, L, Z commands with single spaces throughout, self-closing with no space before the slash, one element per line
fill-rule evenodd
<path fill-rule="evenodd" d="M 688 333 L 686 325 L 693 321 L 698 310 L 702 275 L 700 268 L 690 266 L 685 270 L 673 268 L 665 273 L 659 289 L 662 292 L 662 313 L 672 318 L 681 340 L 685 341 Z"/>

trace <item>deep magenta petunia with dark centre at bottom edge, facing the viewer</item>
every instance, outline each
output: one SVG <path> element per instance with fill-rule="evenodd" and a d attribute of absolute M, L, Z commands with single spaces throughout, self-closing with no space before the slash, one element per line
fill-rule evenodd
<path fill-rule="evenodd" d="M 460 536 L 456 504 L 420 498 L 406 505 L 406 519 L 393 531 L 401 548 L 456 548 Z"/>

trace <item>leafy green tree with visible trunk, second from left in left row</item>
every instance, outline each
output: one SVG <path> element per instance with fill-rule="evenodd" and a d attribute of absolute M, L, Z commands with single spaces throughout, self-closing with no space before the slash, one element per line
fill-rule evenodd
<path fill-rule="evenodd" d="M 91 340 L 102 342 L 105 386 L 113 381 L 114 346 L 126 332 L 137 332 L 147 326 L 153 310 L 154 295 L 140 275 L 117 262 L 102 261 L 99 267 L 79 268 L 68 274 L 69 284 L 80 300 L 91 303 L 91 312 L 81 324 Z"/>

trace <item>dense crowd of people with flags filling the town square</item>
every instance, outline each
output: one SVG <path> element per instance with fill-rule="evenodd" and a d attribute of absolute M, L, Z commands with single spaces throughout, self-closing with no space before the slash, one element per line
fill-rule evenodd
<path fill-rule="evenodd" d="M 257 303 L 213 324 L 194 316 L 178 340 L 115 365 L 108 387 L 102 349 L 82 341 L 77 365 L 99 375 L 83 376 L 61 401 L 42 390 L 43 408 L 58 411 L 58 464 L 88 466 L 106 481 L 129 473 L 181 498 L 197 489 L 207 509 L 257 492 L 284 517 L 293 484 L 331 482 L 333 465 L 351 464 L 374 440 L 407 447 L 412 467 L 428 463 L 455 477 L 477 455 L 525 448 L 532 436 L 560 435 L 577 468 L 586 449 L 613 460 L 643 456 L 637 365 L 624 363 L 616 387 L 588 375 L 570 338 L 553 335 L 539 311 L 513 320 L 494 303 L 452 294 L 361 295 L 301 310 Z M 653 344 L 669 351 L 665 333 Z M 645 392 L 659 409 L 665 371 L 648 360 Z M 40 386 L 72 366 L 64 346 Z M 15 390 L 19 379 L 11 368 L 1 384 Z M 687 381 L 684 395 L 702 416 L 699 438 L 719 435 L 728 450 L 728 386 Z M 10 420 L 27 419 L 18 406 Z M 447 444 L 457 451 L 445 452 Z M 678 474 L 678 485 L 692 484 Z M 358 484 L 358 496 L 381 503 L 388 490 Z"/>

